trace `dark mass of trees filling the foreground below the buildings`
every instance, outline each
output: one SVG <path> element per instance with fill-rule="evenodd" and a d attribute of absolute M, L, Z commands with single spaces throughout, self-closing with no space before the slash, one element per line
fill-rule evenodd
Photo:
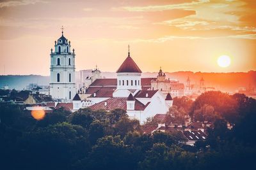
<path fill-rule="evenodd" d="M 255 169 L 254 99 L 207 92 L 195 102 L 173 104 L 192 118 L 213 118 L 205 141 L 192 147 L 179 145 L 180 132 L 143 134 L 139 122 L 119 109 L 59 109 L 35 120 L 22 106 L 2 104 L 1 169 Z M 214 111 L 204 113 L 205 104 Z"/>

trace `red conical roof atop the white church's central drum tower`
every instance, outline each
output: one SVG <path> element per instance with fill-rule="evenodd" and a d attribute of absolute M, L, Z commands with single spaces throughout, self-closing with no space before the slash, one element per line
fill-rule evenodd
<path fill-rule="evenodd" d="M 116 73 L 142 73 L 137 64 L 132 60 L 130 55 L 124 60 L 122 65 L 118 68 Z"/>

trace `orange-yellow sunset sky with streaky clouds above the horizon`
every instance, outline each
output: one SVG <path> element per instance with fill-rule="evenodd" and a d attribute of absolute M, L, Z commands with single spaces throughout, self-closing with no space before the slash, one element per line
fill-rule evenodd
<path fill-rule="evenodd" d="M 76 71 L 116 71 L 128 45 L 143 72 L 256 70 L 254 0 L 13 0 L 0 1 L 0 74 L 49 75 L 62 25 Z"/>

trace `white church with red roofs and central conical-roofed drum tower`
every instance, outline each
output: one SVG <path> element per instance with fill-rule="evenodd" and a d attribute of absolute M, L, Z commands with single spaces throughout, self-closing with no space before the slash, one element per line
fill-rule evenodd
<path fill-rule="evenodd" d="M 127 58 L 116 71 L 117 78 L 97 79 L 84 94 L 79 94 L 81 107 L 84 103 L 92 110 L 121 108 L 127 111 L 129 118 L 138 119 L 141 124 L 157 113 L 166 113 L 172 106 L 171 95 L 164 95 L 157 89 L 151 90 L 154 78 L 141 78 L 141 73 L 128 52 Z"/>

